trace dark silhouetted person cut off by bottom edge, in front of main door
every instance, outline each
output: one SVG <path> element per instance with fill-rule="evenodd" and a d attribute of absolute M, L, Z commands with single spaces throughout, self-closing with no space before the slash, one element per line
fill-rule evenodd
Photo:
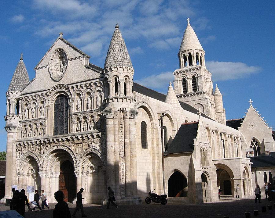
<path fill-rule="evenodd" d="M 54 193 L 54 197 L 57 201 L 53 209 L 53 218 L 71 218 L 71 213 L 67 202 L 64 202 L 63 191 L 57 191 Z"/>

